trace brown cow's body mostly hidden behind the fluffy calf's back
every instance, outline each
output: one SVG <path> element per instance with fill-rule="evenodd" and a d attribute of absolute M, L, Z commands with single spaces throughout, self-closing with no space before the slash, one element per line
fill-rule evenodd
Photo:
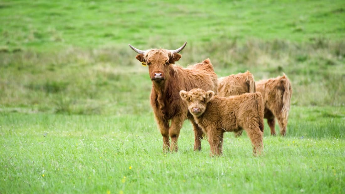
<path fill-rule="evenodd" d="M 256 92 L 254 76 L 249 71 L 218 79 L 218 96 L 229 97 L 254 92 Z"/>

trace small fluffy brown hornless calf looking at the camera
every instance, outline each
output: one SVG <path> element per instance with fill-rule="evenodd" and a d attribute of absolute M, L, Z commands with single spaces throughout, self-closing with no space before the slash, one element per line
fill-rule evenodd
<path fill-rule="evenodd" d="M 245 130 L 252 141 L 254 155 L 263 148 L 264 101 L 260 93 L 229 98 L 214 96 L 213 91 L 195 88 L 180 91 L 195 122 L 208 136 L 211 155 L 222 152 L 224 132 Z"/>

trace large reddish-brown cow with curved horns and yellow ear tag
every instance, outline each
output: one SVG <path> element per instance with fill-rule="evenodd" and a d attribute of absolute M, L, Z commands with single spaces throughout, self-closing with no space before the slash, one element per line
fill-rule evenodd
<path fill-rule="evenodd" d="M 195 135 L 194 150 L 201 149 L 203 132 L 194 122 L 193 117 L 188 112 L 187 104 L 180 98 L 179 92 L 192 88 L 214 91 L 217 89 L 217 75 L 209 59 L 188 68 L 173 65 L 181 58 L 178 52 L 186 46 L 186 43 L 176 50 L 150 49 L 143 51 L 129 45 L 134 51 L 139 53 L 136 59 L 148 65 L 152 81 L 151 106 L 160 128 L 160 133 L 163 136 L 164 151 L 169 148 L 172 151 L 178 150 L 177 139 L 182 124 L 187 118 L 193 124 Z M 171 124 L 169 126 L 170 120 Z M 169 135 L 171 137 L 171 147 Z"/>

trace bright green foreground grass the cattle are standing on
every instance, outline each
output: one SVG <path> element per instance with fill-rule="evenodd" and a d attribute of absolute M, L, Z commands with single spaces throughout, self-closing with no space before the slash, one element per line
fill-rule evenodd
<path fill-rule="evenodd" d="M 0 192 L 343 193 L 344 110 L 291 112 L 286 137 L 270 136 L 266 126 L 260 157 L 252 156 L 245 133 L 226 133 L 221 157 L 209 157 L 206 140 L 194 152 L 188 122 L 178 153 L 162 153 L 151 113 L 2 113 Z"/>

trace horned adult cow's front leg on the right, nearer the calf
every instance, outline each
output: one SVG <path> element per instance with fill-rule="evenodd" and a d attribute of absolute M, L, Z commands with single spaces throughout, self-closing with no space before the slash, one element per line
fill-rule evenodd
<path fill-rule="evenodd" d="M 171 125 L 169 128 L 169 135 L 171 137 L 171 151 L 177 152 L 178 150 L 177 139 L 180 135 L 180 130 L 185 118 L 185 115 L 179 114 L 171 119 Z"/>

